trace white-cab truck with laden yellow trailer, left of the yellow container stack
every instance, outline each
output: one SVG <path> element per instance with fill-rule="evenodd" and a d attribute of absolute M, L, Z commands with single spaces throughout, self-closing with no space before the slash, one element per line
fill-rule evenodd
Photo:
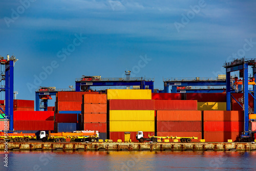
<path fill-rule="evenodd" d="M 39 139 L 42 140 L 42 142 L 66 142 L 67 139 L 75 142 L 95 142 L 99 138 L 99 133 L 98 131 L 83 131 L 73 133 L 51 133 L 49 131 L 49 133 L 46 134 L 45 131 L 40 131 L 39 136 Z"/>

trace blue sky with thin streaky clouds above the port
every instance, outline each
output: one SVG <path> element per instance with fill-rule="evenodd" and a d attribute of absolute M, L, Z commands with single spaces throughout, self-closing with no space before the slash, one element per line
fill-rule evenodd
<path fill-rule="evenodd" d="M 163 88 L 163 78 L 224 74 L 232 54 L 255 58 L 255 1 L 2 0 L 0 10 L 0 55 L 19 59 L 18 99 L 34 100 L 34 87 L 68 88 L 82 75 L 121 77 L 125 70 Z"/>

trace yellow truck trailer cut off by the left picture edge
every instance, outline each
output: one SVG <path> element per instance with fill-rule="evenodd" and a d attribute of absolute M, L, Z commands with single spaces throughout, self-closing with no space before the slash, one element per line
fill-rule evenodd
<path fill-rule="evenodd" d="M 35 134 L 23 134 L 21 133 L 7 133 L 1 132 L 0 133 L 0 140 L 5 140 L 7 142 L 29 142 L 29 140 L 36 140 Z"/>

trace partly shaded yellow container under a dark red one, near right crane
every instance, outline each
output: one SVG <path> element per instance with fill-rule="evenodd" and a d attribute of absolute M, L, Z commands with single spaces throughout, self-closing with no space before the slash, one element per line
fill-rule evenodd
<path fill-rule="evenodd" d="M 197 108 L 199 111 L 226 111 L 226 102 L 198 102 Z"/>

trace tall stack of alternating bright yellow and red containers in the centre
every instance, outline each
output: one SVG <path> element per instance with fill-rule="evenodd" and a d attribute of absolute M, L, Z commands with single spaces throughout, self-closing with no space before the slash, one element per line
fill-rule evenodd
<path fill-rule="evenodd" d="M 155 135 L 155 110 L 151 90 L 108 90 L 110 139 L 124 141 L 124 133 L 143 131 L 146 138 Z"/>

